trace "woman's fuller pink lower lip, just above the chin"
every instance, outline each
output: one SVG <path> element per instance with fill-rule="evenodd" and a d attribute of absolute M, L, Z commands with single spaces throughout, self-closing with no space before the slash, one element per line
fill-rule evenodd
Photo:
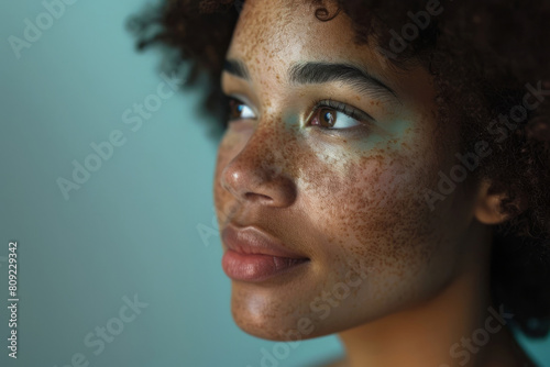
<path fill-rule="evenodd" d="M 263 281 L 307 263 L 309 263 L 309 259 L 242 254 L 232 249 L 226 251 L 221 259 L 221 266 L 228 277 L 233 280 L 245 281 Z"/>

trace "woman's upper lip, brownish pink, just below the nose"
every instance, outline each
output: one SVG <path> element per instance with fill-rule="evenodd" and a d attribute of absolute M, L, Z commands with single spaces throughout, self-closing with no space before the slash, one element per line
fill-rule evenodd
<path fill-rule="evenodd" d="M 253 225 L 237 227 L 233 224 L 229 224 L 223 229 L 221 240 L 228 248 L 241 254 L 307 258 L 307 256 L 288 249 L 277 238 Z"/>

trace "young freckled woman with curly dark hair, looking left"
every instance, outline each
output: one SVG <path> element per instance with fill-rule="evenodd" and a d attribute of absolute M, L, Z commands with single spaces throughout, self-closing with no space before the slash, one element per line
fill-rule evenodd
<path fill-rule="evenodd" d="M 535 0 L 169 0 L 134 23 L 210 77 L 237 324 L 338 333 L 333 366 L 532 366 L 510 330 L 549 325 L 549 20 Z"/>

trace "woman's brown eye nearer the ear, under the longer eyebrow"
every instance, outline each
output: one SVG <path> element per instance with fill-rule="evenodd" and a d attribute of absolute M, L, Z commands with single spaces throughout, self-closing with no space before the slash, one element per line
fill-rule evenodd
<path fill-rule="evenodd" d="M 309 124 L 330 130 L 344 130 L 364 125 L 365 121 L 374 121 L 374 119 L 345 103 L 323 100 L 316 102 Z"/>

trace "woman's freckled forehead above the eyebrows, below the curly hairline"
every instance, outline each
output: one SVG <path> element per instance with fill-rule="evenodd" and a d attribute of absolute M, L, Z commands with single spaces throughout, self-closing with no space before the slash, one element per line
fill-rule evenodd
<path fill-rule="evenodd" d="M 381 55 L 371 47 L 354 43 L 350 18 L 338 11 L 336 2 L 327 2 L 329 20 L 316 16 L 311 0 L 246 0 L 228 58 L 242 59 L 251 74 L 266 68 L 286 71 L 298 60 L 354 62 L 383 67 Z"/>

